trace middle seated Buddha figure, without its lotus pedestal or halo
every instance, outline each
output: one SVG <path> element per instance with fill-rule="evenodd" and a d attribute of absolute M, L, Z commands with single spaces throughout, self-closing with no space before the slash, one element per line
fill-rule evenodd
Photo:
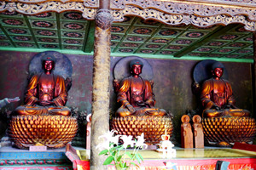
<path fill-rule="evenodd" d="M 118 88 L 117 101 L 121 105 L 116 116 L 166 116 L 166 111 L 155 108 L 154 93 L 151 83 L 140 77 L 143 62 L 132 59 L 131 77 L 122 80 Z"/>

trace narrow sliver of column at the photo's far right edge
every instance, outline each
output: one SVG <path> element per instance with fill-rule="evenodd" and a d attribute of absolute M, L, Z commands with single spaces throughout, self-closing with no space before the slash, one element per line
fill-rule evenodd
<path fill-rule="evenodd" d="M 253 117 L 256 118 L 256 31 L 253 32 Z"/>

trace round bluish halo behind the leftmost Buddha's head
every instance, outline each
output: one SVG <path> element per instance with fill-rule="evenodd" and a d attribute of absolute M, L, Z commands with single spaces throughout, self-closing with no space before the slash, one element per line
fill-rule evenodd
<path fill-rule="evenodd" d="M 71 61 L 67 58 L 66 55 L 61 54 L 56 51 L 45 51 L 39 54 L 36 54 L 29 64 L 29 74 L 34 75 L 43 72 L 42 68 L 42 61 L 41 59 L 45 55 L 52 55 L 55 57 L 55 70 L 53 71 L 54 74 L 64 77 L 72 77 L 73 67 Z"/>

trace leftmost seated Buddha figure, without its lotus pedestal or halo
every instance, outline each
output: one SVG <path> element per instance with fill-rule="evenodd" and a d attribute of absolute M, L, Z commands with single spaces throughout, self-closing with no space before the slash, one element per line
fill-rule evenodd
<path fill-rule="evenodd" d="M 41 61 L 44 72 L 32 76 L 26 89 L 25 105 L 17 107 L 15 112 L 18 115 L 70 116 L 71 111 L 65 106 L 65 80 L 53 73 L 55 57 L 45 55 Z"/>

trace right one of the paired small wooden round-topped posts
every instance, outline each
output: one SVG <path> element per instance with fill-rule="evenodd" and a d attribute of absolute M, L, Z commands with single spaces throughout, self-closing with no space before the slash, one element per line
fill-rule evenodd
<path fill-rule="evenodd" d="M 195 115 L 193 120 L 194 145 L 195 148 L 204 148 L 204 133 L 201 125 L 201 116 Z"/>

